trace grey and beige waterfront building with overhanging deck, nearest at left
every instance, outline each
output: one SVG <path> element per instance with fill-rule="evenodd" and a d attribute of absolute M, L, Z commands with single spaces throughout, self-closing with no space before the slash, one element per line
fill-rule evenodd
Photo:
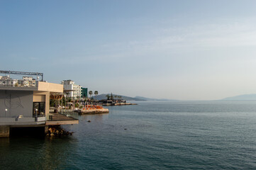
<path fill-rule="evenodd" d="M 77 119 L 58 113 L 62 118 L 52 118 L 55 114 L 50 113 L 50 95 L 63 94 L 62 84 L 23 80 L 28 81 L 26 86 L 0 84 L 0 137 L 8 137 L 10 128 L 48 130 L 48 125 L 78 124 Z"/>

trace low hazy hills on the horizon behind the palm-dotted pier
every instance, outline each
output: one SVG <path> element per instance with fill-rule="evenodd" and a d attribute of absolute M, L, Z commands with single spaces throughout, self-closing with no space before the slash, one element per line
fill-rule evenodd
<path fill-rule="evenodd" d="M 101 101 L 101 100 L 107 99 L 107 95 L 108 94 L 97 95 L 97 100 Z M 123 100 L 126 100 L 126 101 L 177 101 L 177 100 L 169 100 L 169 99 L 165 99 L 165 98 L 162 98 L 162 99 L 145 98 L 145 97 L 142 97 L 142 96 L 129 97 L 129 96 L 122 96 L 122 95 L 119 95 L 119 94 L 113 94 L 114 98 L 115 98 L 115 96 L 121 96 L 121 98 Z M 95 96 L 93 96 L 91 98 L 95 99 Z"/>

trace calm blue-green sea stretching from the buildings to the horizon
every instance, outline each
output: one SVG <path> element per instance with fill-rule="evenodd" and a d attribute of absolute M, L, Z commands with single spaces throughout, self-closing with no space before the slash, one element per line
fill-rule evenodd
<path fill-rule="evenodd" d="M 66 125 L 69 137 L 0 139 L 0 169 L 256 168 L 255 101 L 108 108 Z"/>

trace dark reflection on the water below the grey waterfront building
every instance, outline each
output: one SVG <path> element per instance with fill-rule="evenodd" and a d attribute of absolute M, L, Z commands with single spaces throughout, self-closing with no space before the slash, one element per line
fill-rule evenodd
<path fill-rule="evenodd" d="M 75 137 L 1 138 L 0 169 L 63 169 L 75 150 Z"/>

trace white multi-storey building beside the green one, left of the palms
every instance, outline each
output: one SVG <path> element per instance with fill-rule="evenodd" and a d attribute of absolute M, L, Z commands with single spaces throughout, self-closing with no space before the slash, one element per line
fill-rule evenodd
<path fill-rule="evenodd" d="M 75 84 L 72 80 L 63 80 L 62 84 L 64 91 L 67 91 L 68 98 L 81 98 L 82 86 Z"/>

